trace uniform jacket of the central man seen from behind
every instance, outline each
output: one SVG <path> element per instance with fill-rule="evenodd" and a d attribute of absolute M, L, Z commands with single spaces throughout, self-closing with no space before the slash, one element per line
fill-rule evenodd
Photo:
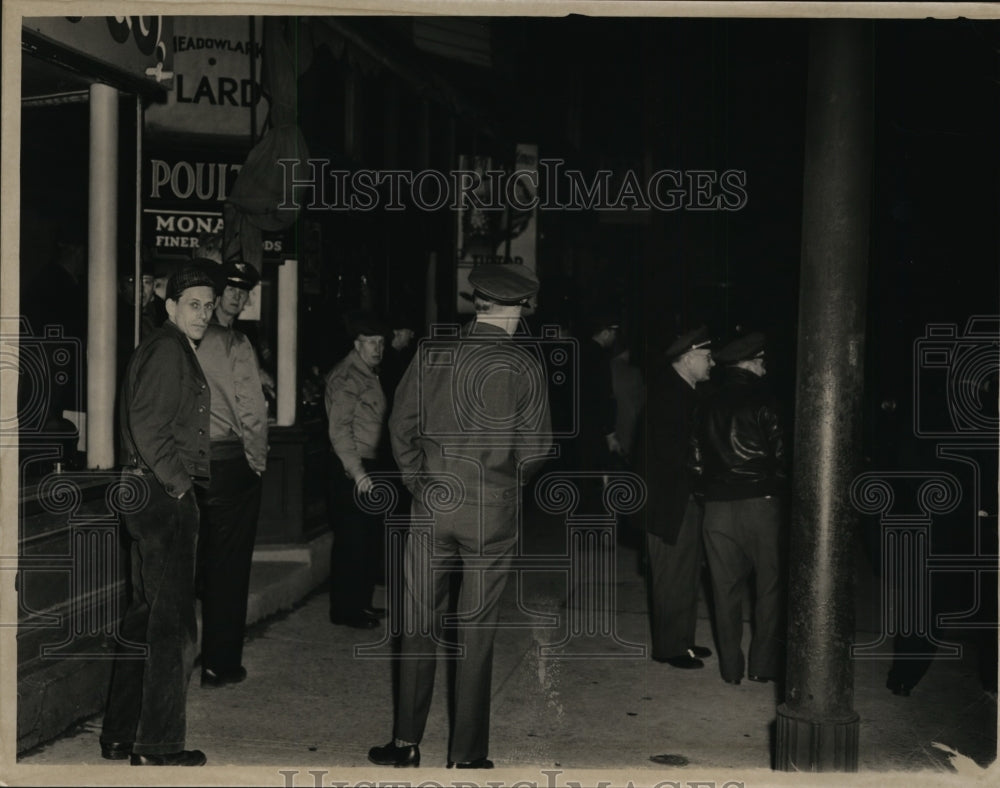
<path fill-rule="evenodd" d="M 474 321 L 456 339 L 425 339 L 396 389 L 389 434 L 403 483 L 422 500 L 453 474 L 464 500 L 518 501 L 552 446 L 546 378 L 530 343 Z"/>

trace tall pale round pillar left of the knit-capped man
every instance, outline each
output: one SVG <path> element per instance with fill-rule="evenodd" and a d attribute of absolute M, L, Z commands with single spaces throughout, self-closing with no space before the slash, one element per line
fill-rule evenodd
<path fill-rule="evenodd" d="M 87 467 L 115 464 L 118 342 L 118 91 L 90 86 L 87 241 Z"/>

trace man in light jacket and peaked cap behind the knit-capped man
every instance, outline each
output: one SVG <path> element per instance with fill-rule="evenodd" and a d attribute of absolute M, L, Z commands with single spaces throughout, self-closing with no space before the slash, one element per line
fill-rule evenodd
<path fill-rule="evenodd" d="M 260 277 L 247 263 L 196 259 L 222 290 L 198 346 L 212 393 L 211 483 L 199 492 L 197 590 L 201 599 L 201 685 L 246 678 L 242 665 L 250 570 L 267 467 L 267 402 L 257 354 L 233 318 Z M 221 319 L 220 319 L 221 316 Z"/>

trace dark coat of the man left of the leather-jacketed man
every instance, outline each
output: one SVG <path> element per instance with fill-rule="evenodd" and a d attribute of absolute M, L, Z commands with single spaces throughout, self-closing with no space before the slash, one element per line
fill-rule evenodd
<path fill-rule="evenodd" d="M 690 447 L 700 394 L 670 364 L 652 371 L 646 395 L 646 530 L 677 542 L 693 491 Z"/>

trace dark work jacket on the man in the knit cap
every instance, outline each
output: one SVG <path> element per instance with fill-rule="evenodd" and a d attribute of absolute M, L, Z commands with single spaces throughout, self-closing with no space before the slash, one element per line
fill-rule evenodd
<path fill-rule="evenodd" d="M 208 383 L 188 338 L 169 320 L 129 359 L 122 384 L 121 445 L 126 468 L 151 472 L 179 497 L 209 477 Z"/>

